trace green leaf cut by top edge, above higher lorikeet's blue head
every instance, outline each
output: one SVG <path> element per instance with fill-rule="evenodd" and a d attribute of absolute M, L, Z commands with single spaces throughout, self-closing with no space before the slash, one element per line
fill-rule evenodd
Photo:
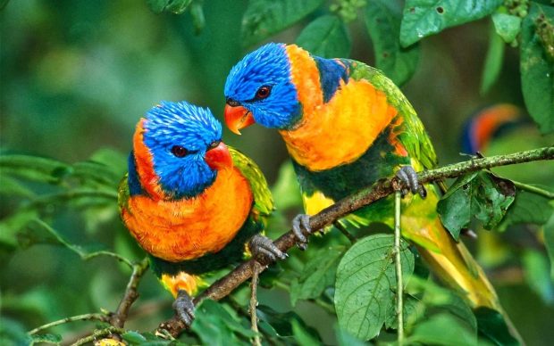
<path fill-rule="evenodd" d="M 242 17 L 243 44 L 253 45 L 290 27 L 321 4 L 323 0 L 251 0 Z"/>

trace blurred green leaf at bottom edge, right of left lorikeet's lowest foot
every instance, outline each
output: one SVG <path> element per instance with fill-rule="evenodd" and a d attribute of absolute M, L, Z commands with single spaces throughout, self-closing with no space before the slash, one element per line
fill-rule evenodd
<path fill-rule="evenodd" d="M 247 338 L 256 335 L 239 321 L 239 317 L 231 315 L 222 303 L 205 300 L 196 309 L 191 329 L 206 345 L 239 345 L 243 344 L 239 335 Z"/>

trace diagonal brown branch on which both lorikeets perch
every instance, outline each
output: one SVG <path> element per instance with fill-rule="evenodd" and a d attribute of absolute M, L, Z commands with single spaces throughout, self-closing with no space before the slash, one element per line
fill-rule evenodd
<path fill-rule="evenodd" d="M 550 146 L 526 152 L 516 152 L 508 155 L 472 159 L 444 166 L 440 169 L 423 171 L 418 173 L 418 180 L 420 184 L 427 184 L 447 177 L 459 177 L 466 173 L 471 173 L 481 169 L 491 169 L 492 167 L 507 166 L 516 163 L 553 159 L 554 146 Z M 342 218 L 373 202 L 379 201 L 402 187 L 404 186 L 396 177 L 379 180 L 374 185 L 366 187 L 356 194 L 352 194 L 312 216 L 310 218 L 310 227 L 315 231 L 323 227 L 330 226 L 337 219 Z M 284 235 L 281 235 L 281 237 L 275 240 L 274 243 L 281 251 L 286 252 L 296 245 L 297 240 L 292 231 L 289 231 Z M 208 287 L 206 291 L 202 292 L 194 300 L 195 305 L 206 298 L 219 301 L 223 297 L 230 294 L 239 286 L 239 284 L 244 283 L 252 276 L 253 261 L 254 260 L 248 260 L 243 262 L 237 268 L 233 269 L 231 273 L 223 276 L 221 279 Z M 266 268 L 269 263 L 261 264 L 262 268 L 260 268 L 260 273 L 264 271 L 264 268 Z M 159 325 L 158 329 L 165 329 L 173 336 L 177 336 L 183 329 L 185 329 L 185 325 L 178 317 L 172 317 L 172 319 Z"/>

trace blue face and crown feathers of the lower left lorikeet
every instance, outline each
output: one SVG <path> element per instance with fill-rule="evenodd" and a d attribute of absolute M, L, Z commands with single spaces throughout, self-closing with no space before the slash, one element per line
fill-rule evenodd
<path fill-rule="evenodd" d="M 172 198 L 194 197 L 214 183 L 205 154 L 210 144 L 221 141 L 222 125 L 207 108 L 190 103 L 162 102 L 147 112 L 144 144 L 152 153 L 155 174 L 165 194 Z M 188 154 L 177 157 L 180 145 Z"/>

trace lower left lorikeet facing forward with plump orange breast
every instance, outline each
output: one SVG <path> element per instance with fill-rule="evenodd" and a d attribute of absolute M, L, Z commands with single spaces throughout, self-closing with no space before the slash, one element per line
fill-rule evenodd
<path fill-rule="evenodd" d="M 189 103 L 163 102 L 140 119 L 119 206 L 187 325 L 202 274 L 241 260 L 249 239 L 253 255 L 285 257 L 258 235 L 273 210 L 264 175 L 222 143 L 211 111 Z"/>

